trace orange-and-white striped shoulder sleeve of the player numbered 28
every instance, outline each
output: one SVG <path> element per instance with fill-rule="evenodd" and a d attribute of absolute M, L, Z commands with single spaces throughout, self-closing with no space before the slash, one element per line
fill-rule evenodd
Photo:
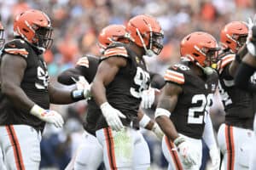
<path fill-rule="evenodd" d="M 166 70 L 164 78 L 166 82 L 175 82 L 177 84 L 183 84 L 185 82 L 183 73 L 178 70 L 175 71 L 172 68 Z"/>

